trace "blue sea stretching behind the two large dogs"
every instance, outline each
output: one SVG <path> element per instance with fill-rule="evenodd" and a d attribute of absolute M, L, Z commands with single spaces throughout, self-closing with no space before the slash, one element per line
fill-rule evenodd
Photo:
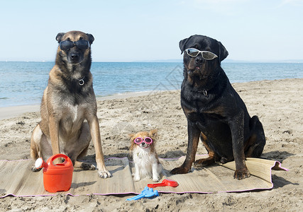
<path fill-rule="evenodd" d="M 40 105 L 54 62 L 0 61 L 0 107 Z M 222 62 L 231 83 L 303 78 L 303 63 Z M 182 62 L 93 62 L 97 97 L 155 90 L 178 90 Z"/>

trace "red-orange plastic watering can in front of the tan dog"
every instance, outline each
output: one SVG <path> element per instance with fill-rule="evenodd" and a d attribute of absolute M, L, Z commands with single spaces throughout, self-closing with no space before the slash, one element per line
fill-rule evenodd
<path fill-rule="evenodd" d="M 63 163 L 53 164 L 56 158 L 64 158 Z M 42 158 L 35 160 L 36 168 L 43 168 L 44 189 L 48 192 L 66 192 L 72 184 L 72 160 L 67 155 L 56 154 L 48 158 L 46 163 Z"/>

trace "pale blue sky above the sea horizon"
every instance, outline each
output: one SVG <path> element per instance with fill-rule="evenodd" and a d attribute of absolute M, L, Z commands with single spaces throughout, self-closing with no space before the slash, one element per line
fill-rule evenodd
<path fill-rule="evenodd" d="M 303 59 L 302 0 L 2 1 L 0 61 L 53 61 L 57 33 L 94 35 L 93 61 L 182 59 L 179 41 L 207 35 L 227 59 Z"/>

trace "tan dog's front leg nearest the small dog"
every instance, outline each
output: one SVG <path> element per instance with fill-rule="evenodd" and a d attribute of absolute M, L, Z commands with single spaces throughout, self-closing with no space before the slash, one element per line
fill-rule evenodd
<path fill-rule="evenodd" d="M 94 150 L 96 152 L 96 162 L 99 177 L 107 178 L 111 177 L 111 174 L 106 169 L 104 164 L 104 155 L 101 146 L 101 138 L 100 138 L 100 130 L 99 130 L 99 122 L 97 116 L 88 119 L 89 129 L 92 135 L 92 141 L 94 143 Z"/>

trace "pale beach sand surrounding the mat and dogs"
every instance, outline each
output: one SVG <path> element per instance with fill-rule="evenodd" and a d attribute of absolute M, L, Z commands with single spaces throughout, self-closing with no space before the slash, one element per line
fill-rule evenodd
<path fill-rule="evenodd" d="M 257 114 L 263 123 L 267 143 L 262 157 L 278 160 L 282 167 L 290 169 L 272 172 L 271 190 L 160 194 L 155 199 L 131 202 L 126 199 L 132 195 L 7 196 L 0 199 L 0 211 L 300 211 L 303 208 L 302 85 L 303 78 L 233 84 L 246 102 L 250 116 Z M 130 96 L 98 100 L 105 158 L 128 156 L 128 134 L 150 129 L 158 129 L 160 158 L 185 155 L 187 121 L 180 107 L 180 90 Z M 30 107 L 31 110 L 24 108 L 13 114 L 9 114 L 9 108 L 0 108 L 0 160 L 30 158 L 31 132 L 40 114 L 36 106 Z M 206 153 L 202 143 L 197 153 Z M 87 158 L 92 157 L 91 144 Z"/>

